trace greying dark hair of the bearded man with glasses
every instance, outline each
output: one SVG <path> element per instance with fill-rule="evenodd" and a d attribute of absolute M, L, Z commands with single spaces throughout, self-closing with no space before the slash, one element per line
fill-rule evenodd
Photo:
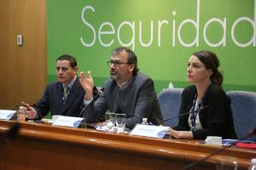
<path fill-rule="evenodd" d="M 137 68 L 137 55 L 130 48 L 126 48 L 126 47 L 114 48 L 111 52 L 111 55 L 113 56 L 116 54 L 120 54 L 123 51 L 125 51 L 129 55 L 127 59 L 127 63 L 134 65 L 134 69 L 132 73 L 133 75 L 136 75 L 137 71 L 139 71 L 139 69 Z"/>

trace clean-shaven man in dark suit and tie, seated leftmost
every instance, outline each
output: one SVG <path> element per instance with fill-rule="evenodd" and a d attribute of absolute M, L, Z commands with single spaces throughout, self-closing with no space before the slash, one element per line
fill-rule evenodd
<path fill-rule="evenodd" d="M 49 111 L 51 115 L 79 116 L 84 101 L 84 88 L 77 78 L 78 70 L 73 56 L 63 54 L 56 59 L 58 82 L 49 83 L 37 104 L 25 104 L 27 117 L 41 119 Z"/>

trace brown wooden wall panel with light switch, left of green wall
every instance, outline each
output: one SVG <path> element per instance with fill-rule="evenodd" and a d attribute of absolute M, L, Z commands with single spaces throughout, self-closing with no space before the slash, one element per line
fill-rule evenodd
<path fill-rule="evenodd" d="M 4 36 L 0 39 L 3 51 L 0 77 L 4 77 L 0 108 L 11 109 L 22 100 L 35 103 L 46 85 L 46 1 L 0 0 L 0 3 L 4 25 L 0 30 Z M 16 44 L 18 34 L 23 35 L 23 46 Z"/>

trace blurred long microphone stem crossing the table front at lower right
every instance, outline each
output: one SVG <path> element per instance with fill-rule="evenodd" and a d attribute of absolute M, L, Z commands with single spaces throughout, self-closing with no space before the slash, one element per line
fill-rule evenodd
<path fill-rule="evenodd" d="M 241 140 L 244 140 L 244 139 L 247 139 L 248 137 L 253 137 L 253 136 L 256 136 L 256 127 L 253 128 L 253 130 L 248 133 L 245 137 L 239 139 L 238 141 L 232 143 L 232 144 L 229 144 L 229 145 L 225 145 L 223 148 L 219 149 L 219 150 L 216 150 L 214 151 L 212 154 L 204 157 L 203 159 L 199 160 L 199 161 L 195 161 L 195 162 L 192 162 L 190 163 L 189 165 L 187 165 L 186 167 L 183 168 L 183 170 L 188 170 L 188 169 L 191 169 L 195 166 L 198 166 L 200 165 L 202 162 L 204 161 L 207 161 L 207 159 L 209 159 L 210 157 L 212 156 L 215 156 L 215 155 L 218 155 L 219 153 L 223 152 L 224 150 L 226 150 L 227 148 L 230 148 L 231 146 L 234 146 L 236 143 L 240 142 Z"/>

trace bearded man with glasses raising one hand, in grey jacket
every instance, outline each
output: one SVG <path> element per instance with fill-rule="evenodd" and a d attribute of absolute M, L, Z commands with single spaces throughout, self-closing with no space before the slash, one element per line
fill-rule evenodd
<path fill-rule="evenodd" d="M 112 51 L 108 61 L 110 79 L 104 82 L 104 92 L 94 102 L 92 97 L 94 82 L 90 71 L 87 76 L 80 73 L 80 83 L 85 91 L 87 105 L 84 107 L 86 122 L 96 122 L 106 111 L 124 113 L 126 127 L 148 122 L 158 124 L 162 120 L 154 82 L 137 69 L 137 56 L 130 48 L 120 47 Z M 93 105 L 94 104 L 94 105 Z"/>

